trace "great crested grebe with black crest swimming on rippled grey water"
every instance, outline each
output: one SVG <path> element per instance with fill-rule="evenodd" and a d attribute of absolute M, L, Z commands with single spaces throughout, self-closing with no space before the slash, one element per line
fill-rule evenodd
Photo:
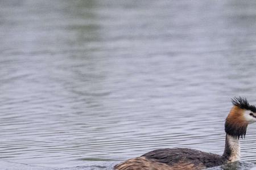
<path fill-rule="evenodd" d="M 117 164 L 117 170 L 204 169 L 240 160 L 240 138 L 245 138 L 248 124 L 256 122 L 256 108 L 245 98 L 232 99 L 233 107 L 225 121 L 225 150 L 223 155 L 189 148 L 163 148 Z"/>

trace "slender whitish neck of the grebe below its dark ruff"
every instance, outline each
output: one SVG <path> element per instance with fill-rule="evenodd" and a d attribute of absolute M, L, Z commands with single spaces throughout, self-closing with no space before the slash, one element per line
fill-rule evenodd
<path fill-rule="evenodd" d="M 231 135 L 226 134 L 226 159 L 227 162 L 236 162 L 240 160 L 240 141 L 238 138 L 234 138 Z"/>

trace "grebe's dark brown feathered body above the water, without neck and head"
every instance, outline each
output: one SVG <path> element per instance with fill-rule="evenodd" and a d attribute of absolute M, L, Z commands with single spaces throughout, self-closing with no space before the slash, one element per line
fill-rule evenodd
<path fill-rule="evenodd" d="M 214 161 L 211 161 L 214 160 Z M 141 157 L 127 160 L 115 167 L 118 170 L 151 169 L 203 169 L 221 165 L 220 155 L 188 148 L 163 148 L 150 151 Z"/>

